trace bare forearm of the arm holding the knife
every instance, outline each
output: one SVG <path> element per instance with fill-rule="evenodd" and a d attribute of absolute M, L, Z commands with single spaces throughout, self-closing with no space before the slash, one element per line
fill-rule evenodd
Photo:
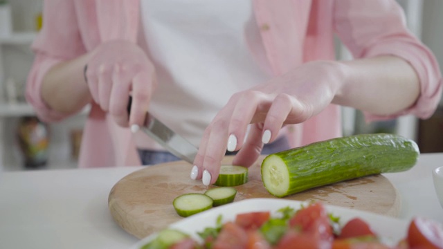
<path fill-rule="evenodd" d="M 42 98 L 51 109 L 75 113 L 91 102 L 83 69 L 88 55 L 82 55 L 53 66 L 44 76 Z"/>

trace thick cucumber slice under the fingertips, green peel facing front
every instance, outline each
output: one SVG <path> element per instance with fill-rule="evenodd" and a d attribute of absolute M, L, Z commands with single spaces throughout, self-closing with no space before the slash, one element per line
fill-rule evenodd
<path fill-rule="evenodd" d="M 216 186 L 233 187 L 248 182 L 248 168 L 237 165 L 221 165 Z"/>

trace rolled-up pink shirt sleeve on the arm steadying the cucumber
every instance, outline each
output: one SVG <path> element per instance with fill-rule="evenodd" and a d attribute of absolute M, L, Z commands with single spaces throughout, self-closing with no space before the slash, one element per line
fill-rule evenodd
<path fill-rule="evenodd" d="M 334 7 L 334 28 L 354 58 L 394 55 L 406 60 L 417 73 L 420 95 L 408 109 L 389 116 L 364 112 L 368 121 L 412 114 L 433 115 L 442 96 L 442 75 L 435 56 L 406 28 L 404 12 L 394 0 L 341 0 Z"/>

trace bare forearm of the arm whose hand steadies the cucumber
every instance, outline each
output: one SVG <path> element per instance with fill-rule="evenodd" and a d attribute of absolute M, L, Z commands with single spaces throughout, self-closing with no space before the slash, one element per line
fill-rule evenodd
<path fill-rule="evenodd" d="M 382 56 L 339 62 L 343 82 L 334 104 L 354 107 L 377 115 L 407 109 L 419 94 L 419 79 L 408 62 Z"/>

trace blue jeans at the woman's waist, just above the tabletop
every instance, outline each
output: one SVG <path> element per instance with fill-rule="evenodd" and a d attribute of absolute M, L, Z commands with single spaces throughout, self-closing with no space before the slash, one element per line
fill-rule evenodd
<path fill-rule="evenodd" d="M 273 154 L 279 151 L 289 149 L 288 141 L 285 137 L 278 138 L 274 142 L 264 145 L 262 155 Z M 226 155 L 235 155 L 236 152 L 226 151 Z M 138 149 L 141 163 L 143 165 L 154 165 L 159 163 L 168 163 L 175 160 L 181 160 L 177 156 L 170 154 L 168 151 L 153 151 L 149 149 Z"/>

